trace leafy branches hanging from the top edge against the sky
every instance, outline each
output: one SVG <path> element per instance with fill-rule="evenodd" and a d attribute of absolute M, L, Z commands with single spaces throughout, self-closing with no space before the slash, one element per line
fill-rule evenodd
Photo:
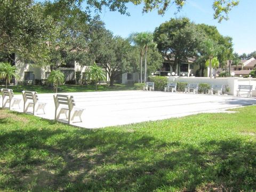
<path fill-rule="evenodd" d="M 180 11 L 189 1 L 190 0 L 57 0 L 55 4 L 56 8 L 59 8 L 58 10 L 66 9 L 66 7 L 79 9 L 84 3 L 85 6 L 83 6 L 83 9 L 87 13 L 90 13 L 92 8 L 101 11 L 103 7 L 108 7 L 110 11 L 118 11 L 121 14 L 130 15 L 129 10 L 127 10 L 127 4 L 132 3 L 134 5 L 143 5 L 143 13 L 157 10 L 158 14 L 163 15 L 173 5 L 177 7 L 177 11 Z M 228 19 L 228 13 L 234 6 L 238 5 L 239 0 L 212 0 L 212 2 L 212 8 L 214 10 L 213 18 L 221 22 L 223 19 Z"/>

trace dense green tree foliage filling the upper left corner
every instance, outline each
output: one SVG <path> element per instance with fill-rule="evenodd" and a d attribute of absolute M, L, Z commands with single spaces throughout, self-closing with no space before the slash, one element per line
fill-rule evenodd
<path fill-rule="evenodd" d="M 1 1 L 0 52 L 17 52 L 22 58 L 47 59 L 47 42 L 51 38 L 51 17 L 44 7 L 32 0 Z"/>

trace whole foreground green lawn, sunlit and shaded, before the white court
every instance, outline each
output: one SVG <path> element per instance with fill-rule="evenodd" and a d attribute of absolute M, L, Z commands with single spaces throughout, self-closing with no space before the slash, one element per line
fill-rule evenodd
<path fill-rule="evenodd" d="M 256 106 L 236 110 L 98 130 L 0 110 L 0 190 L 254 191 Z"/>

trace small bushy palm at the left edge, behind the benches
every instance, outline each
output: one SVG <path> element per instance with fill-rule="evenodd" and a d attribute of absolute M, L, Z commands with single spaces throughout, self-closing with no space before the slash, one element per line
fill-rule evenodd
<path fill-rule="evenodd" d="M 5 79 L 6 89 L 12 77 L 18 77 L 18 75 L 15 73 L 15 70 L 16 70 L 16 67 L 11 66 L 10 63 L 0 62 L 0 78 Z"/>

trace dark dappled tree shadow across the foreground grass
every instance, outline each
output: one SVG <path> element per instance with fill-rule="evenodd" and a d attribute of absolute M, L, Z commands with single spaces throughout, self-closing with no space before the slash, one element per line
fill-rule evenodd
<path fill-rule="evenodd" d="M 29 129 L 1 128 L 0 189 L 248 191 L 256 188 L 254 142 L 211 140 L 192 145 L 166 142 L 137 130 L 85 130 L 40 121 Z"/>

